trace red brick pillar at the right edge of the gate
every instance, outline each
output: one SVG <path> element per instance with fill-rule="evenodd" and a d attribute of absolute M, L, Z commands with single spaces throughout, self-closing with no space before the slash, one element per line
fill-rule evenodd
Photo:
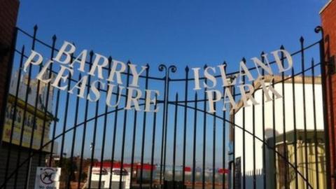
<path fill-rule="evenodd" d="M 330 146 L 330 176 L 332 179 L 332 188 L 336 188 L 336 0 L 328 1 L 322 8 L 320 14 L 324 31 L 325 63 L 328 65 L 326 66 L 327 76 L 325 81 L 327 89 L 326 102 L 328 108 L 328 136 Z"/>

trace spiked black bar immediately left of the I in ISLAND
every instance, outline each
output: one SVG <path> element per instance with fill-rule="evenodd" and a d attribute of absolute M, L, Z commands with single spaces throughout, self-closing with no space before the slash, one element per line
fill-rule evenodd
<path fill-rule="evenodd" d="M 188 106 L 188 73 L 189 73 L 189 67 L 186 66 L 186 83 L 184 86 L 184 116 L 183 116 L 183 172 L 182 172 L 182 183 L 184 185 L 186 180 L 186 137 L 187 137 L 187 106 Z"/>

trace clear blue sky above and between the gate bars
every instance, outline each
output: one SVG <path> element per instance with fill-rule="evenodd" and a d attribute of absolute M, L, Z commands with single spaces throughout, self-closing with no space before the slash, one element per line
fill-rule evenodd
<path fill-rule="evenodd" d="M 306 1 L 21 1 L 18 27 L 32 33 L 34 25 L 38 25 L 38 38 L 50 43 L 51 36 L 57 35 L 58 44 L 61 41 L 70 41 L 78 49 L 94 50 L 102 55 L 111 55 L 113 59 L 123 62 L 131 60 L 134 64 L 149 64 L 157 70 L 159 64 L 175 64 L 178 67 L 173 77 L 183 77 L 185 66 L 197 67 L 204 64 L 216 66 L 224 60 L 228 62 L 229 71 L 238 69 L 242 57 L 251 58 L 259 56 L 260 52 L 270 52 L 284 45 L 293 52 L 299 50 L 300 36 L 306 38 L 305 43 L 318 41 L 320 34 L 314 33 L 314 28 L 321 24 L 318 15 L 325 0 Z M 20 45 L 22 41 L 19 41 Z M 20 47 L 20 46 L 19 46 Z M 314 55 L 318 51 L 313 52 Z M 49 55 L 45 54 L 45 56 Z M 162 73 L 157 73 L 162 76 Z M 155 84 L 153 84 L 155 85 Z M 160 84 L 156 84 L 160 85 Z M 176 87 L 175 90 L 179 90 Z M 174 90 L 174 89 L 173 89 Z M 173 94 L 174 95 L 174 94 Z M 174 96 L 172 95 L 172 99 Z M 183 94 L 181 94 L 183 96 Z M 193 97 L 191 95 L 190 97 Z M 73 97 L 71 97 L 74 99 Z M 61 97 L 65 99 L 65 93 Z M 72 104 L 74 100 L 70 101 Z M 80 102 L 80 111 L 83 111 L 83 101 Z M 73 106 L 71 106 L 73 107 Z M 94 104 L 90 104 L 94 107 Z M 104 107 L 103 107 L 104 108 Z M 102 107 L 100 112 L 104 111 Z M 169 111 L 173 106 L 169 107 Z M 73 109 L 70 109 L 73 114 Z M 93 115 L 93 110 L 90 109 Z M 181 110 L 180 110 L 181 111 Z M 64 112 L 62 112 L 64 113 Z M 59 115 L 62 116 L 62 113 Z M 137 127 L 136 157 L 139 159 L 139 139 L 142 133 L 142 114 L 139 113 Z M 180 114 L 179 114 L 180 115 Z M 193 118 L 193 112 L 188 112 Z M 122 126 L 123 113 L 119 114 L 120 127 Z M 129 114 L 133 116 L 132 113 Z M 151 115 L 153 116 L 153 115 Z M 92 117 L 92 116 L 90 116 Z M 200 114 L 200 117 L 202 115 Z M 71 119 L 73 117 L 71 116 Z M 169 116 L 169 123 L 172 121 Z M 109 116 L 109 128 L 113 115 Z M 132 118 L 130 118 L 132 122 Z M 212 118 L 208 118 L 212 125 Z M 148 125 L 152 125 L 152 118 L 148 118 Z M 158 118 L 158 123 L 161 123 Z M 199 118 L 202 128 L 202 119 Z M 179 123 L 181 120 L 179 120 Z M 73 120 L 68 121 L 71 126 Z M 190 124 L 189 124 L 190 123 Z M 219 125 L 221 123 L 218 123 Z M 62 121 L 57 127 L 61 132 Z M 160 125 L 160 124 L 159 124 Z M 188 120 L 188 148 L 191 146 L 193 122 Z M 121 128 L 118 127 L 118 133 Z M 127 125 L 127 136 L 132 136 L 132 125 Z M 219 127 L 218 127 L 219 128 Z M 81 133 L 83 128 L 78 129 Z M 178 127 L 181 139 L 182 126 Z M 207 130 L 207 149 L 211 159 L 211 127 Z M 157 130 L 161 132 L 160 127 Z M 218 138 L 223 137 L 218 131 Z M 87 133 L 92 134 L 92 123 L 88 126 Z M 109 133 L 109 136 L 111 133 Z M 71 136 L 66 136 L 66 151 L 71 148 Z M 102 120 L 99 120 L 98 139 L 102 139 Z M 146 145 L 150 145 L 151 127 L 146 130 Z M 197 133 L 197 138 L 202 137 L 202 130 Z M 111 137 L 111 136 L 110 136 Z M 117 134 L 117 143 L 120 135 Z M 172 134 L 169 135 L 172 137 Z M 91 139 L 87 137 L 87 146 Z M 79 153 L 80 134 L 76 135 L 76 151 Z M 111 141 L 111 138 L 106 140 Z M 160 147 L 158 138 L 158 148 Z M 79 147 L 78 147 L 79 146 Z M 202 146 L 202 141 L 197 141 L 197 146 Z M 109 144 L 109 148 L 111 144 Z M 118 149 L 120 146 L 117 147 Z M 156 147 L 155 147 L 156 148 Z M 178 142 L 179 160 L 181 160 L 181 141 Z M 218 142 L 218 151 L 221 144 Z M 85 155 L 90 155 L 90 150 L 85 147 Z M 101 148 L 100 148 L 101 149 Z M 99 147 L 97 150 L 100 151 Z M 130 157 L 130 139 L 127 138 L 127 155 Z M 168 148 L 171 150 L 171 148 Z M 158 149 L 155 149 L 158 151 Z M 106 150 L 111 153 L 111 150 Z M 146 154 L 150 148 L 146 147 Z M 190 150 L 191 151 L 191 150 Z M 207 150 L 208 151 L 208 150 Z M 159 151 L 158 151 L 159 152 Z M 156 152 L 155 152 L 156 153 Z M 202 151 L 197 150 L 197 164 L 202 160 Z M 157 154 L 158 155 L 158 154 Z M 171 155 L 171 154 L 170 154 Z M 191 154 L 188 154 L 190 164 Z M 96 157 L 100 157 L 99 155 Z M 145 158 L 148 160 L 148 155 Z M 171 160 L 171 158 L 168 158 Z M 216 162 L 221 162 L 221 156 Z M 181 165 L 181 161 L 179 162 Z M 220 167 L 220 165 L 218 165 Z"/>

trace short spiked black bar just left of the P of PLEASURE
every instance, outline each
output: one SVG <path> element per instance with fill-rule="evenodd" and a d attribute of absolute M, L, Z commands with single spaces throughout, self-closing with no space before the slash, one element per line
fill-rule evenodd
<path fill-rule="evenodd" d="M 16 85 L 16 90 L 15 90 L 14 111 L 13 111 L 13 115 L 11 116 L 12 117 L 12 123 L 11 123 L 11 126 L 10 126 L 10 131 L 11 132 L 10 132 L 10 138 L 9 138 L 8 151 L 7 151 L 5 177 L 3 179 L 3 181 L 5 181 L 5 182 L 8 180 L 7 177 L 8 177 L 9 163 L 10 163 L 10 153 L 11 153 L 11 148 L 13 146 L 13 144 L 12 144 L 13 143 L 13 131 L 14 131 L 15 120 L 16 120 L 16 115 L 17 115 L 18 96 L 19 96 L 20 80 L 21 80 L 21 75 L 22 75 L 22 64 L 23 64 L 23 58 L 24 57 L 25 57 L 25 45 L 22 46 L 21 55 L 20 55 L 20 68 L 19 68 L 19 73 L 18 73 L 18 84 Z M 8 92 L 8 94 L 9 94 L 9 92 Z M 6 188 L 6 187 L 7 187 L 7 183 L 5 184 L 4 188 Z"/>

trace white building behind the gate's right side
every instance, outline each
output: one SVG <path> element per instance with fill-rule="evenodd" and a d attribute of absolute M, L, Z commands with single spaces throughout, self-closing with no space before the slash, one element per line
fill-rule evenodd
<path fill-rule="evenodd" d="M 296 76 L 294 82 L 291 78 L 284 80 L 283 84 L 281 83 L 281 76 L 274 76 L 274 89 L 279 92 L 279 94 L 283 94 L 282 87 L 284 85 L 284 97 L 275 99 L 274 103 L 272 101 L 265 102 L 265 142 L 269 146 L 274 146 L 274 133 L 276 138 L 276 151 L 283 155 L 283 133 L 286 133 L 286 143 L 287 143 L 287 154 L 288 154 L 288 161 L 294 165 L 295 156 L 293 154 L 294 149 L 297 150 L 297 169 L 300 173 L 307 177 L 305 174 L 305 156 L 304 156 L 304 102 L 303 102 L 303 84 L 302 84 L 302 77 Z M 265 77 L 265 81 L 269 84 L 272 83 L 271 77 Z M 294 84 L 293 84 L 294 83 Z M 323 141 L 323 103 L 322 103 L 322 89 L 321 89 L 321 78 L 315 77 L 314 78 L 314 88 L 315 88 L 315 109 L 314 112 L 314 100 L 313 100 L 313 78 L 310 76 L 306 76 L 304 78 L 304 90 L 305 90 L 305 112 L 306 112 L 306 131 L 307 131 L 307 139 L 312 140 L 311 142 L 308 141 L 309 148 L 307 150 L 308 153 L 308 162 L 309 162 L 309 183 L 313 188 L 316 187 L 316 183 L 312 183 L 311 181 L 316 181 L 316 169 L 315 169 L 315 151 L 314 151 L 314 128 L 316 127 L 316 133 L 318 140 Z M 268 85 L 267 84 L 267 85 Z M 254 97 L 257 102 L 262 102 L 262 90 L 258 87 L 256 83 L 256 90 L 254 92 Z M 295 104 L 293 103 L 293 87 L 295 89 Z M 258 88 L 258 90 L 257 90 Z M 269 92 L 272 95 L 272 92 Z M 271 96 L 272 97 L 272 96 Z M 264 95 L 264 100 L 266 99 Z M 285 106 L 284 116 L 285 121 L 283 121 L 283 102 Z M 252 104 L 251 100 L 248 100 L 248 104 Z M 273 104 L 274 104 L 274 111 L 273 111 Z M 245 181 L 246 181 L 246 188 L 253 188 L 253 146 L 255 146 L 255 178 L 256 178 L 256 188 L 262 188 L 263 184 L 263 174 L 262 170 L 265 169 L 266 174 L 266 188 L 273 188 L 274 186 L 274 167 L 276 168 L 276 184 L 277 188 L 282 188 L 284 181 L 283 179 L 283 167 L 288 166 L 286 169 L 288 170 L 288 174 L 290 174 L 287 178 L 288 186 L 290 188 L 295 188 L 295 170 L 291 167 L 288 163 L 286 163 L 283 158 L 280 158 L 279 155 L 276 155 L 276 160 L 274 161 L 274 151 L 267 148 L 265 146 L 265 167 L 263 167 L 263 155 L 262 149 L 264 145 L 262 141 L 262 103 L 255 105 L 255 128 L 254 133 L 255 137 L 255 144 L 253 144 L 253 106 L 245 107 L 245 125 L 243 124 L 243 108 L 242 102 L 239 102 L 240 108 L 237 109 L 235 112 L 235 124 L 239 125 L 240 127 L 245 127 L 245 143 L 243 143 L 243 130 L 239 127 L 235 127 L 235 131 L 232 130 L 230 127 L 231 133 L 231 149 L 230 149 L 230 167 L 231 173 L 236 174 L 235 181 L 231 178 L 231 183 L 239 182 L 241 180 L 241 188 L 242 188 L 242 179 L 243 179 L 243 170 L 245 168 Z M 295 108 L 295 113 L 294 113 Z M 293 146 L 293 136 L 294 136 L 294 114 L 295 114 L 295 126 L 296 126 L 296 137 L 297 137 L 297 146 Z M 314 120 L 316 118 L 316 120 Z M 275 125 L 274 125 L 275 123 Z M 285 125 L 283 125 L 285 123 Z M 244 126 L 243 126 L 244 125 Z M 283 131 L 283 128 L 286 127 L 286 130 Z M 274 131 L 274 132 L 273 132 Z M 250 132 L 250 133 L 248 133 Z M 232 143 L 233 137 L 235 143 Z M 322 142 L 321 144 L 324 144 Z M 324 145 L 318 145 L 318 179 L 319 179 L 319 186 L 325 186 L 325 171 L 324 164 Z M 233 153 L 233 148 L 235 147 L 235 153 Z M 245 149 L 245 160 L 243 157 L 243 149 Z M 234 155 L 234 157 L 233 157 Z M 233 158 L 235 158 L 235 165 L 233 162 Z M 239 164 L 240 160 L 240 164 Z M 274 162 L 276 165 L 274 166 Z M 239 164 L 239 165 L 238 165 Z M 245 165 L 245 167 L 244 167 Z M 284 165 L 284 166 L 283 166 Z M 236 167 L 236 168 L 233 168 Z M 236 169 L 236 170 L 233 170 Z M 239 171 L 240 169 L 240 171 Z M 241 176 L 239 176 L 239 172 Z M 238 173 L 238 174 L 237 174 Z M 280 173 L 280 174 L 279 174 Z M 294 174 L 294 176 L 293 176 Z M 233 176 L 231 176 L 233 177 Z M 302 176 L 297 177 L 299 188 L 304 188 L 304 180 Z M 314 179 L 313 179 L 314 178 Z M 239 183 L 238 183 L 239 185 Z M 231 184 L 232 186 L 232 184 Z M 236 187 L 237 188 L 237 187 Z M 239 188 L 239 187 L 238 187 Z M 322 187 L 323 188 L 323 187 Z"/>

